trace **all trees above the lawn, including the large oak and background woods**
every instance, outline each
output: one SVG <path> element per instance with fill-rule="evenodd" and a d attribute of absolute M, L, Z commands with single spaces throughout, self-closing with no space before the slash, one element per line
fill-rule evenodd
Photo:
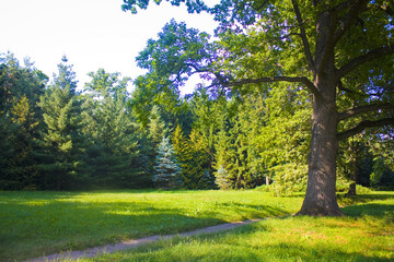
<path fill-rule="evenodd" d="M 124 2 L 136 13 L 149 1 Z M 394 186 L 389 3 L 186 4 L 220 23 L 215 39 L 169 22 L 136 58 L 148 73 L 135 80 L 99 69 L 78 83 L 65 56 L 49 81 L 2 53 L 0 189 L 280 195 L 306 190 L 308 174 L 334 196 L 335 186 Z M 210 84 L 181 96 L 194 74 Z"/>

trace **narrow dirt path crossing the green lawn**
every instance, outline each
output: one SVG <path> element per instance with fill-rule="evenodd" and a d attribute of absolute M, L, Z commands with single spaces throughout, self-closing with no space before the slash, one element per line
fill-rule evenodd
<path fill-rule="evenodd" d="M 114 253 L 116 251 L 136 248 L 136 247 L 139 247 L 144 243 L 155 242 L 155 241 L 159 241 L 160 239 L 171 239 L 173 237 L 190 237 L 190 236 L 197 236 L 200 234 L 219 233 L 219 231 L 230 230 L 235 227 L 240 227 L 240 226 L 251 224 L 254 222 L 258 222 L 258 221 L 262 221 L 262 219 L 251 219 L 251 221 L 244 221 L 244 222 L 227 223 L 227 224 L 210 226 L 210 227 L 206 227 L 206 228 L 196 229 L 193 231 L 179 233 L 179 234 L 174 234 L 174 235 L 164 235 L 164 236 L 157 235 L 157 236 L 144 237 L 144 238 L 139 238 L 139 239 L 135 239 L 135 240 L 127 240 L 127 241 L 123 241 L 123 242 L 115 243 L 115 245 L 106 245 L 106 246 L 102 246 L 102 247 L 90 248 L 90 249 L 86 249 L 83 251 L 68 251 L 68 252 L 62 252 L 62 253 L 50 254 L 50 255 L 46 255 L 46 257 L 33 259 L 33 260 L 27 260 L 26 262 L 53 262 L 53 261 L 61 261 L 63 259 L 77 260 L 77 259 L 81 259 L 81 258 L 93 258 L 93 257 L 96 257 L 96 255 L 100 255 L 103 253 Z"/>

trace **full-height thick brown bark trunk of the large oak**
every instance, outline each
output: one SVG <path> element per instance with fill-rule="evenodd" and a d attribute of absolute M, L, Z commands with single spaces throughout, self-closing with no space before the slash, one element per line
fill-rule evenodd
<path fill-rule="evenodd" d="M 329 13 L 316 22 L 316 48 L 313 94 L 311 153 L 305 199 L 298 215 L 341 216 L 336 200 L 336 155 L 338 151 L 335 58 L 331 44 L 335 31 Z"/>

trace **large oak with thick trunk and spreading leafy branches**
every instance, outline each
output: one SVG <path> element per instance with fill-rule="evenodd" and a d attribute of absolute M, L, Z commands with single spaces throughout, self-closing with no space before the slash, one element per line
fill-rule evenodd
<path fill-rule="evenodd" d="M 306 87 L 313 103 L 312 141 L 299 214 L 341 215 L 335 195 L 338 142 L 394 123 L 393 1 L 171 3 L 215 15 L 220 40 L 210 44 L 206 34 L 173 21 L 138 58 L 150 71 L 146 76 L 162 75 L 174 86 L 194 73 L 206 73 L 212 86 L 285 82 Z M 123 9 L 136 13 L 148 4 L 124 0 Z"/>

